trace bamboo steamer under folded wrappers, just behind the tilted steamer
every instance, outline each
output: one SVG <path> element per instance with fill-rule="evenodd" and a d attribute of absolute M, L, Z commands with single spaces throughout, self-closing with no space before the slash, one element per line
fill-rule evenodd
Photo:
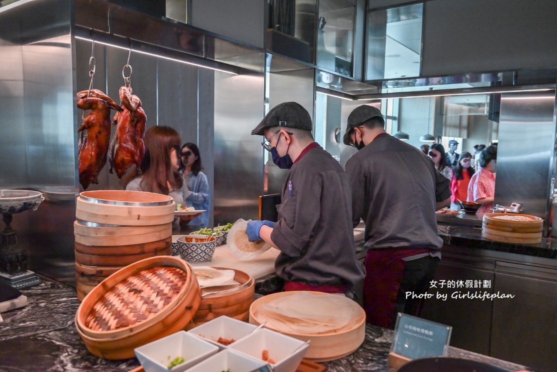
<path fill-rule="evenodd" d="M 214 268 L 232 270 L 224 267 Z M 241 270 L 233 270 L 235 272 L 234 280 L 240 283 L 240 287 L 203 293 L 201 305 L 199 305 L 192 322 L 188 324 L 186 330 L 190 330 L 222 315 L 245 322 L 249 320 L 250 306 L 255 298 L 255 281 L 249 274 Z"/>

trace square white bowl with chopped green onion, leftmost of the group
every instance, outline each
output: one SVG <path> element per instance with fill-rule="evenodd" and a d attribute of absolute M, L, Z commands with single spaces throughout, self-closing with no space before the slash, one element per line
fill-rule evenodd
<path fill-rule="evenodd" d="M 182 372 L 218 352 L 218 346 L 179 331 L 157 341 L 137 347 L 134 352 L 145 372 Z M 169 369 L 168 364 L 181 356 L 184 363 Z"/>

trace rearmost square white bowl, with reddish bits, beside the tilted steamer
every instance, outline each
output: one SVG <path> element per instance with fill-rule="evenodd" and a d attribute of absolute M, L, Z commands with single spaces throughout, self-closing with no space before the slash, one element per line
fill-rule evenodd
<path fill-rule="evenodd" d="M 247 335 L 251 334 L 257 326 L 242 322 L 228 316 L 219 316 L 207 323 L 203 323 L 195 328 L 190 329 L 188 332 L 190 334 L 202 337 L 202 339 L 212 342 L 213 344 L 224 349 L 227 345 L 219 344 L 219 337 L 224 339 L 234 340 L 234 342 L 243 339 Z M 233 345 L 232 342 L 230 345 Z"/>

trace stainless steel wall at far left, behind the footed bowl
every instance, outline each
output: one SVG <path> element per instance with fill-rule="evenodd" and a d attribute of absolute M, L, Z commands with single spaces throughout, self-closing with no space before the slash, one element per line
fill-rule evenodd
<path fill-rule="evenodd" d="M 29 267 L 43 273 L 73 270 L 63 260 L 73 259 L 75 211 L 70 21 L 69 0 L 0 9 L 0 188 L 45 192 L 38 210 L 12 224 Z"/>

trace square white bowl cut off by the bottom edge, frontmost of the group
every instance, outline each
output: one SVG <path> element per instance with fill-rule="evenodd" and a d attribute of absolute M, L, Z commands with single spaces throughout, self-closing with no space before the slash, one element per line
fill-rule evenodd
<path fill-rule="evenodd" d="M 240 352 L 226 349 L 188 369 L 188 372 L 220 372 L 228 369 L 231 372 L 246 372 L 266 365 L 267 363 L 261 359 L 253 359 L 247 355 L 242 355 Z"/>

